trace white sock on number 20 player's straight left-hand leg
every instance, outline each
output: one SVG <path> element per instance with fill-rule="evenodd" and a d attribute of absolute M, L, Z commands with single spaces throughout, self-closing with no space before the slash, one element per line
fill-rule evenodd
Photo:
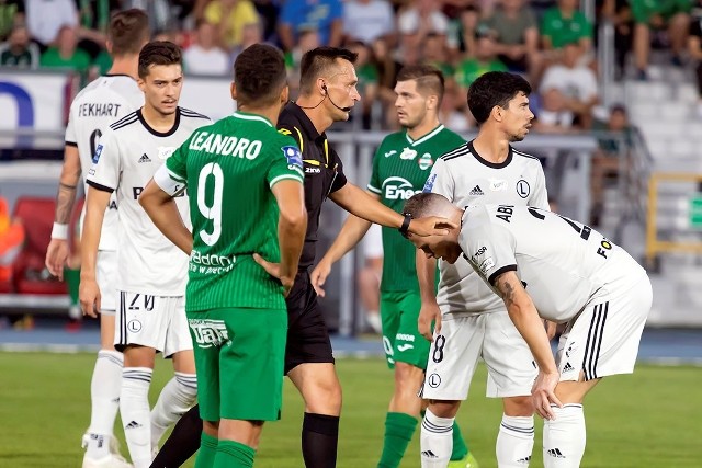
<path fill-rule="evenodd" d="M 152 373 L 148 367 L 125 367 L 122 373 L 120 411 L 134 468 L 148 468 L 151 465 L 148 397 Z"/>

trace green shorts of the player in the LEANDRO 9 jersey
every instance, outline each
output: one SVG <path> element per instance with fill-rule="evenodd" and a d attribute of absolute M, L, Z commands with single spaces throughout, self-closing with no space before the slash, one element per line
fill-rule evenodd
<path fill-rule="evenodd" d="M 204 421 L 276 421 L 283 398 L 285 309 L 188 312 Z"/>

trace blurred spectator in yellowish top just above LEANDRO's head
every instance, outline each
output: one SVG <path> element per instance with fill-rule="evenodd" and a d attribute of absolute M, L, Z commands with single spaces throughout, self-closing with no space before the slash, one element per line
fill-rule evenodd
<path fill-rule="evenodd" d="M 241 44 L 244 26 L 260 22 L 250 0 L 213 0 L 205 7 L 204 16 L 217 26 L 218 43 L 227 49 Z"/>

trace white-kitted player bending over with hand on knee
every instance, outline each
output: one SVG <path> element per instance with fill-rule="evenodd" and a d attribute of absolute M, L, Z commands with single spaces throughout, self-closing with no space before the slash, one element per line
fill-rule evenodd
<path fill-rule="evenodd" d="M 420 194 L 405 210 L 462 217 L 460 230 L 412 243 L 449 263 L 468 259 L 502 298 L 539 365 L 532 395 L 546 420 L 544 466 L 579 467 L 585 396 L 602 377 L 634 370 L 653 297 L 645 270 L 595 229 L 543 209 L 487 205 L 463 212 L 445 197 Z M 556 359 L 539 317 L 567 323 Z"/>

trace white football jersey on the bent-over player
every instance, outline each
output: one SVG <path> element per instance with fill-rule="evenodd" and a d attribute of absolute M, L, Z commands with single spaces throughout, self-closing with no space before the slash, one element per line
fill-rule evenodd
<path fill-rule="evenodd" d="M 545 209 L 468 207 L 458 243 L 486 284 L 516 271 L 539 315 L 565 322 L 608 285 L 644 269 L 603 235 Z M 611 290 L 609 290 L 611 293 Z"/>

